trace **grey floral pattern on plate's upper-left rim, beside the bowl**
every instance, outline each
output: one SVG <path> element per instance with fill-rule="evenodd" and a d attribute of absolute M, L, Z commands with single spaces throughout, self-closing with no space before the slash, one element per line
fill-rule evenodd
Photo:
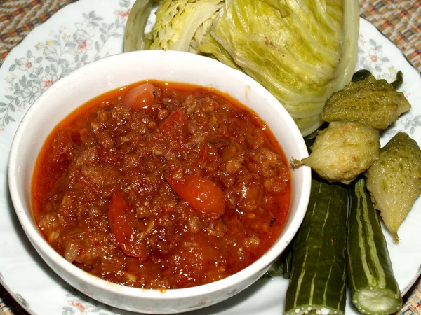
<path fill-rule="evenodd" d="M 131 8 L 130 1 L 119 4 L 121 8 L 114 11 L 113 22 L 104 22 L 93 10 L 82 13 L 80 22 L 74 23 L 74 31 L 69 32 L 62 25 L 25 56 L 14 59 L 8 69 L 11 74 L 5 78 L 6 100 L 0 102 L 0 131 L 16 122 L 13 113 L 26 111 L 55 81 L 109 55 L 107 43 L 110 38 L 123 36 Z"/>

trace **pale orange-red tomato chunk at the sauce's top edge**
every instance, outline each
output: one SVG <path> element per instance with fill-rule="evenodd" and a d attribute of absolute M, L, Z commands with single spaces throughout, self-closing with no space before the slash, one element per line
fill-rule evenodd
<path fill-rule="evenodd" d="M 128 109 L 151 110 L 155 102 L 155 85 L 144 83 L 129 90 L 124 98 L 123 104 Z"/>

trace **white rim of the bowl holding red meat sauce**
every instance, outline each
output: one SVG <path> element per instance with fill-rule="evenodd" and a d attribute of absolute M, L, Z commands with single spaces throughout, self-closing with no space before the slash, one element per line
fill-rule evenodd
<path fill-rule="evenodd" d="M 36 115 L 36 110 L 43 104 L 45 99 L 48 99 L 51 94 L 54 94 L 56 91 L 60 91 L 63 87 L 67 86 L 68 82 L 72 82 L 75 78 L 80 76 L 82 73 L 86 73 L 93 69 L 100 69 L 106 67 L 109 62 L 120 62 L 121 59 L 126 58 L 135 58 L 139 55 L 142 58 L 153 58 L 153 59 L 160 59 L 166 58 L 170 56 L 171 58 L 177 59 L 187 59 L 189 61 L 196 60 L 201 64 L 206 64 L 208 68 L 215 68 L 219 71 L 223 71 L 229 73 L 230 75 L 234 76 L 236 80 L 241 80 L 244 85 L 250 85 L 253 87 L 253 90 L 258 90 L 258 93 L 261 97 L 265 98 L 267 103 L 273 107 L 274 111 L 288 122 L 288 130 L 293 134 L 295 141 L 297 141 L 297 148 L 300 153 L 302 153 L 302 157 L 308 156 L 308 151 L 305 146 L 305 141 L 301 136 L 300 131 L 298 130 L 297 125 L 291 118 L 290 114 L 286 109 L 281 105 L 281 103 L 270 93 L 268 92 L 265 87 L 262 87 L 260 83 L 255 81 L 253 78 L 250 78 L 245 73 L 238 71 L 236 69 L 232 69 L 221 62 L 218 62 L 215 59 L 211 59 L 209 57 L 203 57 L 200 55 L 194 55 L 189 52 L 178 52 L 178 51 L 165 51 L 165 50 L 142 50 L 142 51 L 135 51 L 135 52 L 126 52 L 118 55 L 108 56 L 102 59 L 99 59 L 95 62 L 91 62 L 90 64 L 86 64 L 81 66 L 79 69 L 72 71 L 64 78 L 61 78 L 57 82 L 53 83 L 51 87 L 48 88 L 41 96 L 34 101 L 32 106 L 28 109 L 25 116 L 22 118 L 18 130 L 16 131 L 13 142 L 11 145 L 11 151 L 9 153 L 9 162 L 8 162 L 8 188 L 11 194 L 11 200 L 13 202 L 13 207 L 15 209 L 15 213 L 18 216 L 18 220 L 20 221 L 20 225 L 25 231 L 27 238 L 31 241 L 32 246 L 36 249 L 36 251 L 41 255 L 42 260 L 47 262 L 49 267 L 53 269 L 53 271 L 58 274 L 61 278 L 63 278 L 62 274 L 55 271 L 55 267 L 51 265 L 51 263 L 57 265 L 61 269 L 65 270 L 66 273 L 72 274 L 76 279 L 82 282 L 88 282 L 89 285 L 98 288 L 100 290 L 107 290 L 109 293 L 117 294 L 117 295 L 124 295 L 130 297 L 144 297 L 147 299 L 154 299 L 154 300 L 161 300 L 163 297 L 168 300 L 180 299 L 184 297 L 194 297 L 199 295 L 206 295 L 210 293 L 214 293 L 215 291 L 222 290 L 224 288 L 229 288 L 235 284 L 241 283 L 241 281 L 245 279 L 250 279 L 253 277 L 256 272 L 269 267 L 272 262 L 280 255 L 280 253 L 286 248 L 289 242 L 293 239 L 293 236 L 298 231 L 302 220 L 305 216 L 305 212 L 307 211 L 307 205 L 309 202 L 309 194 L 311 188 L 311 169 L 306 166 L 302 166 L 303 174 L 302 174 L 302 185 L 300 186 L 301 190 L 301 197 L 298 200 L 297 209 L 301 210 L 298 211 L 293 218 L 289 218 L 287 220 L 292 220 L 291 222 L 294 223 L 288 230 L 284 228 L 281 232 L 281 235 L 278 239 L 276 239 L 275 243 L 268 249 L 266 253 L 264 253 L 258 260 L 255 260 L 251 265 L 242 269 L 231 276 L 227 276 L 225 279 L 220 279 L 218 281 L 213 281 L 210 283 L 206 283 L 200 286 L 193 286 L 189 288 L 176 288 L 176 289 L 166 289 L 163 290 L 159 289 L 143 289 L 143 288 L 133 288 L 130 286 L 123 286 L 121 284 L 112 283 L 110 281 L 106 281 L 104 279 L 99 278 L 98 276 L 94 276 L 93 274 L 89 274 L 88 272 L 83 271 L 79 267 L 76 267 L 71 262 L 68 262 L 62 255 L 57 253 L 53 247 L 48 244 L 46 239 L 41 235 L 38 228 L 34 223 L 34 218 L 31 209 L 27 209 L 29 215 L 26 214 L 26 207 L 25 202 L 19 197 L 18 193 L 18 184 L 15 179 L 15 172 L 19 169 L 19 165 L 16 163 L 16 156 L 18 155 L 18 148 L 22 137 L 25 137 L 25 130 L 27 129 L 27 121 L 31 121 L 32 118 Z M 180 80 L 180 83 L 182 80 Z M 230 95 L 233 97 L 232 95 Z M 81 104 L 82 105 L 82 104 Z M 246 106 L 246 105 L 244 105 Z M 247 107 L 247 106 L 246 106 Z M 72 109 L 74 111 L 74 109 Z M 69 113 L 72 113 L 69 111 Z M 69 115 L 69 113 L 66 114 Z M 258 111 L 256 111 L 258 113 Z M 258 113 L 259 115 L 259 113 Z M 60 122 L 58 122 L 60 123 Z M 57 125 L 57 124 L 55 124 Z M 298 137 L 298 135 L 300 137 Z M 45 141 L 45 139 L 44 139 Z M 292 169 L 291 169 L 292 171 Z M 32 178 L 32 175 L 31 175 Z M 292 201 L 291 201 L 292 202 Z M 286 242 L 281 242 L 280 238 L 287 239 Z M 281 249 L 280 249 L 281 248 Z M 40 253 L 44 253 L 51 262 L 46 260 L 44 256 Z M 67 281 L 67 279 L 65 279 Z"/>

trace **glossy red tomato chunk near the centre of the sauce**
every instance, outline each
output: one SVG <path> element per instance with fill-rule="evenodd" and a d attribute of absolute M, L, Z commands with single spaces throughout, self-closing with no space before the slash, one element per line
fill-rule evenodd
<path fill-rule="evenodd" d="M 219 218 L 225 213 L 225 196 L 213 181 L 199 175 L 188 175 L 175 180 L 171 176 L 166 181 L 182 200 L 199 214 L 208 218 Z"/>

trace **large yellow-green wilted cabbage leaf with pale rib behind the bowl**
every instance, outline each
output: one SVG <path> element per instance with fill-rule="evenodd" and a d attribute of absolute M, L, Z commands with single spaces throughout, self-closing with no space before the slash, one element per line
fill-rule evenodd
<path fill-rule="evenodd" d="M 258 80 L 307 135 L 321 125 L 326 99 L 352 78 L 358 25 L 355 0 L 231 0 L 199 51 Z"/>

